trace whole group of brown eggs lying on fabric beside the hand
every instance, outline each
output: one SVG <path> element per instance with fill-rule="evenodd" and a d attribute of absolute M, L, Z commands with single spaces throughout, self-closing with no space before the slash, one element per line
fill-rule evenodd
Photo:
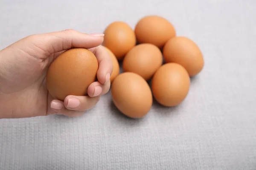
<path fill-rule="evenodd" d="M 113 22 L 104 34 L 102 45 L 114 65 L 113 103 L 131 118 L 145 116 L 153 97 L 166 107 L 179 105 L 189 92 L 190 77 L 204 67 L 198 45 L 177 36 L 172 23 L 160 16 L 143 17 L 134 30 L 125 22 Z"/>

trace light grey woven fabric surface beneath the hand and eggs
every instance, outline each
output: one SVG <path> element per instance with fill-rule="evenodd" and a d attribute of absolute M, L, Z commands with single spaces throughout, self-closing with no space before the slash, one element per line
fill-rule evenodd
<path fill-rule="evenodd" d="M 111 94 L 79 118 L 0 120 L 0 170 L 256 170 L 255 0 L 0 0 L 0 48 L 30 34 L 95 33 L 148 14 L 201 48 L 205 67 L 175 108 L 122 116 Z"/>

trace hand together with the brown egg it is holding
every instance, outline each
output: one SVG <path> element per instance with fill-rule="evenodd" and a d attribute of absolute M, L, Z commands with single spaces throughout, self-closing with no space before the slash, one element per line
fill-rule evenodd
<path fill-rule="evenodd" d="M 92 108 L 108 92 L 113 70 L 103 36 L 56 31 L 1 50 L 0 119 L 79 116 Z"/>

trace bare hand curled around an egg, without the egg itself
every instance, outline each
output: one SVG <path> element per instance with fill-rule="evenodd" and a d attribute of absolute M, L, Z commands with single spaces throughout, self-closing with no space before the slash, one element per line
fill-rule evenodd
<path fill-rule="evenodd" d="M 75 30 L 56 31 L 25 37 L 0 51 L 0 119 L 63 114 L 80 116 L 93 108 L 110 88 L 113 63 L 101 46 L 104 34 Z M 51 62 L 70 48 L 87 48 L 99 63 L 97 82 L 88 87 L 88 96 L 53 99 L 46 86 Z"/>

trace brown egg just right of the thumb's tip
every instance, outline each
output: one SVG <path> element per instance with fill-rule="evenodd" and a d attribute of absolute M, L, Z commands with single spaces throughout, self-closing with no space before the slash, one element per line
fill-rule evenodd
<path fill-rule="evenodd" d="M 136 45 L 136 37 L 132 28 L 124 22 L 111 23 L 104 31 L 103 45 L 110 49 L 118 60 Z"/>

